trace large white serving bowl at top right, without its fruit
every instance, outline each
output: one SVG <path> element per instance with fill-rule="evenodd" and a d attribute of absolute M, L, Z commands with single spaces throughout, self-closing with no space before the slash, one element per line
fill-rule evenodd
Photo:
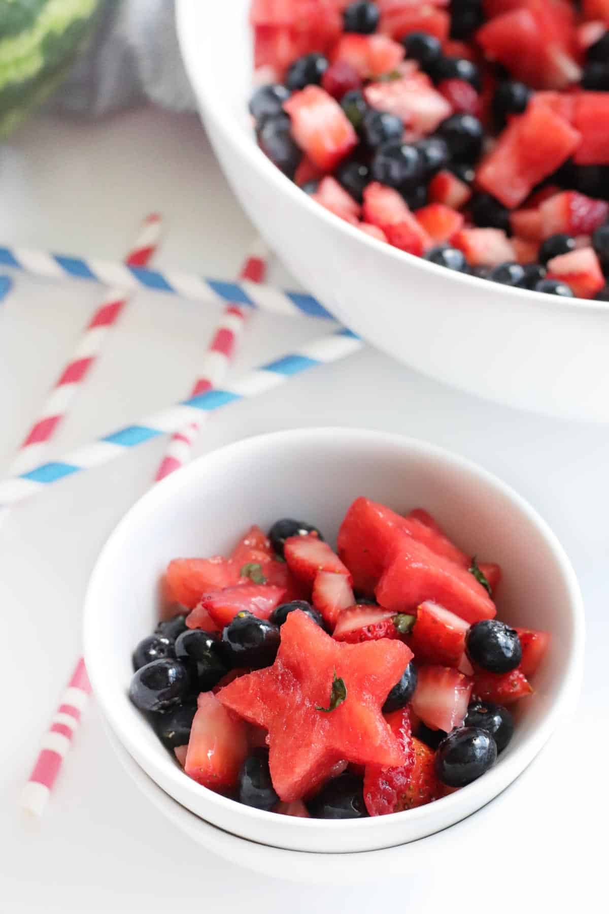
<path fill-rule="evenodd" d="M 178 2 L 184 60 L 240 203 L 344 324 L 426 375 L 488 399 L 609 420 L 609 306 L 511 289 L 391 248 L 302 193 L 258 149 L 247 113 L 248 0 Z"/>

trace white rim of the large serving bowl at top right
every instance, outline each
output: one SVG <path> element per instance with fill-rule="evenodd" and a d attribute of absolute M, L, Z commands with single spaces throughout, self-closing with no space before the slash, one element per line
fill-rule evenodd
<path fill-rule="evenodd" d="M 442 277 L 447 279 L 446 273 L 449 273 L 450 280 L 461 282 L 480 291 L 484 291 L 484 286 L 487 286 L 490 281 L 481 279 L 478 276 L 471 276 L 467 273 L 453 270 L 447 271 L 445 267 L 432 263 L 430 260 L 425 260 L 422 257 L 415 257 L 413 254 L 409 254 L 404 250 L 394 248 L 393 245 L 373 238 L 371 235 L 366 234 L 366 232 L 362 232 L 359 228 L 350 225 L 350 223 L 346 222 L 344 219 L 335 216 L 334 213 L 331 213 L 330 210 L 325 207 L 321 207 L 318 203 L 311 200 L 308 194 L 304 194 L 298 186 L 283 174 L 283 172 L 279 171 L 278 167 L 272 164 L 270 159 L 268 159 L 258 147 L 257 143 L 251 142 L 251 139 L 247 137 L 246 133 L 236 131 L 226 106 L 223 107 L 221 103 L 219 94 L 215 99 L 214 90 L 211 89 L 212 86 L 220 85 L 218 80 L 198 80 L 196 77 L 197 72 L 206 66 L 205 53 L 202 53 L 201 51 L 200 35 L 196 28 L 196 23 L 198 21 L 197 16 L 201 16 L 202 11 L 202 6 L 199 8 L 198 5 L 189 3 L 188 0 L 177 0 L 175 17 L 184 66 L 194 87 L 197 101 L 205 110 L 205 113 L 213 116 L 215 124 L 222 130 L 222 133 L 224 133 L 226 142 L 239 147 L 241 154 L 247 158 L 248 165 L 251 165 L 257 171 L 258 175 L 262 176 L 265 180 L 268 180 L 278 193 L 285 193 L 291 197 L 297 206 L 305 207 L 311 214 L 316 214 L 326 221 L 330 227 L 333 227 L 336 231 L 345 233 L 352 239 L 358 239 L 362 245 L 372 247 L 373 250 L 378 251 L 386 257 L 390 257 L 392 260 L 398 260 L 398 262 L 405 258 L 406 262 L 412 267 L 424 272 L 428 271 L 438 279 L 441 279 Z M 205 91 L 205 85 L 210 87 L 209 91 Z M 609 303 L 595 301 L 594 299 L 576 297 L 566 298 L 561 295 L 551 295 L 549 292 L 532 292 L 529 289 L 519 289 L 515 286 L 503 285 L 502 283 L 493 283 L 493 285 L 493 293 L 490 293 L 491 290 L 488 290 L 489 305 L 494 303 L 494 293 L 496 293 L 497 300 L 499 300 L 500 294 L 505 294 L 516 298 L 517 300 L 520 299 L 523 303 L 526 301 L 529 304 L 536 304 L 549 311 L 560 309 L 562 311 L 575 312 L 587 310 L 603 313 L 609 309 Z"/>

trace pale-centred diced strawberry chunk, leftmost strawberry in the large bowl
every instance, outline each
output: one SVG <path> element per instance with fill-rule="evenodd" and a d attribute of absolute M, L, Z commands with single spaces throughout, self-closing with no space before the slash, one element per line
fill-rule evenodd
<path fill-rule="evenodd" d="M 357 145 L 347 115 L 320 86 L 294 92 L 283 107 L 289 113 L 294 140 L 314 165 L 331 171 Z"/>

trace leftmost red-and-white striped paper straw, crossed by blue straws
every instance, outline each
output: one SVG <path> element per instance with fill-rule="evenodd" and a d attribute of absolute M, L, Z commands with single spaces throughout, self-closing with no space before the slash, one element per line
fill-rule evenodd
<path fill-rule="evenodd" d="M 158 213 L 147 216 L 141 231 L 125 258 L 133 267 L 143 267 L 157 250 L 161 236 L 161 217 Z M 48 449 L 49 441 L 58 430 L 68 409 L 100 354 L 101 346 L 112 327 L 118 322 L 129 299 L 122 289 L 112 289 L 93 314 L 80 336 L 75 352 L 64 368 L 55 387 L 49 393 L 39 418 L 27 432 L 8 475 L 26 473 L 36 466 Z"/>

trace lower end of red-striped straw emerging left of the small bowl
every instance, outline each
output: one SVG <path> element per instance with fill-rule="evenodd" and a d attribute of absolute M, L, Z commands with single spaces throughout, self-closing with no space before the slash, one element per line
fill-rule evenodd
<path fill-rule="evenodd" d="M 24 788 L 22 805 L 34 815 L 42 815 L 44 812 L 90 692 L 89 676 L 84 661 L 80 658 L 68 688 L 61 696 L 57 713 L 42 740 L 36 764 Z"/>

